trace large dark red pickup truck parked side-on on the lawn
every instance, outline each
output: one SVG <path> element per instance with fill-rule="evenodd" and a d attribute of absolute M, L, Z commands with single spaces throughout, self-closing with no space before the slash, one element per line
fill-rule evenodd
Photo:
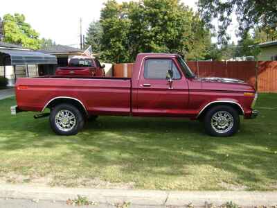
<path fill-rule="evenodd" d="M 132 78 L 18 78 L 17 106 L 44 112 L 58 135 L 75 135 L 92 116 L 172 116 L 199 119 L 212 136 L 238 132 L 240 115 L 255 118 L 255 89 L 240 80 L 197 78 L 175 54 L 141 53 Z M 186 128 L 186 127 L 185 127 Z"/>

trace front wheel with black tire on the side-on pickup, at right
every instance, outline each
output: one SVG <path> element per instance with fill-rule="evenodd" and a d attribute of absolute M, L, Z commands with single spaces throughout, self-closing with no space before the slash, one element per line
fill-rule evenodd
<path fill-rule="evenodd" d="M 231 106 L 217 105 L 206 112 L 204 125 L 213 137 L 230 137 L 240 128 L 240 116 Z"/>

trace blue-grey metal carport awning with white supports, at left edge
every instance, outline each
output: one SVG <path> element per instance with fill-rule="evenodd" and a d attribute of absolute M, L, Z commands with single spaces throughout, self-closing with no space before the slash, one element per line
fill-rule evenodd
<path fill-rule="evenodd" d="M 3 66 L 3 76 L 11 81 L 10 85 L 15 83 L 17 77 L 38 76 L 37 72 L 30 73 L 28 66 L 35 65 L 37 71 L 37 65 L 40 64 L 57 64 L 57 58 L 38 51 L 0 49 L 0 66 Z M 8 74 L 7 66 L 12 66 L 12 72 Z M 20 70 L 17 66 L 21 67 Z"/>

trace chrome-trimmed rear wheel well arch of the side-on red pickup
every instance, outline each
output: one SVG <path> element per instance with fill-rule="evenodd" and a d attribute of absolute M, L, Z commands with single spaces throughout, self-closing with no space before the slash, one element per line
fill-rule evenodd
<path fill-rule="evenodd" d="M 75 107 L 78 108 L 78 110 L 80 110 L 80 112 L 82 112 L 82 114 L 84 116 L 88 116 L 87 114 L 87 110 L 84 108 L 84 105 L 78 101 L 78 100 L 75 100 L 73 98 L 56 98 L 55 100 L 51 101 L 50 103 L 48 103 L 46 105 L 47 108 L 49 109 L 52 109 L 53 107 L 55 107 L 56 105 L 60 105 L 62 103 L 68 103 L 68 104 L 71 104 Z M 44 107 L 44 108 L 46 108 Z"/>

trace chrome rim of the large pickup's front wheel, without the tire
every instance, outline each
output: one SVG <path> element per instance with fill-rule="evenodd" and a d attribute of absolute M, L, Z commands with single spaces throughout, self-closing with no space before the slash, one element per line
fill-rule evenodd
<path fill-rule="evenodd" d="M 226 111 L 218 111 L 213 114 L 211 119 L 211 126 L 215 132 L 224 134 L 233 128 L 233 116 Z"/>

